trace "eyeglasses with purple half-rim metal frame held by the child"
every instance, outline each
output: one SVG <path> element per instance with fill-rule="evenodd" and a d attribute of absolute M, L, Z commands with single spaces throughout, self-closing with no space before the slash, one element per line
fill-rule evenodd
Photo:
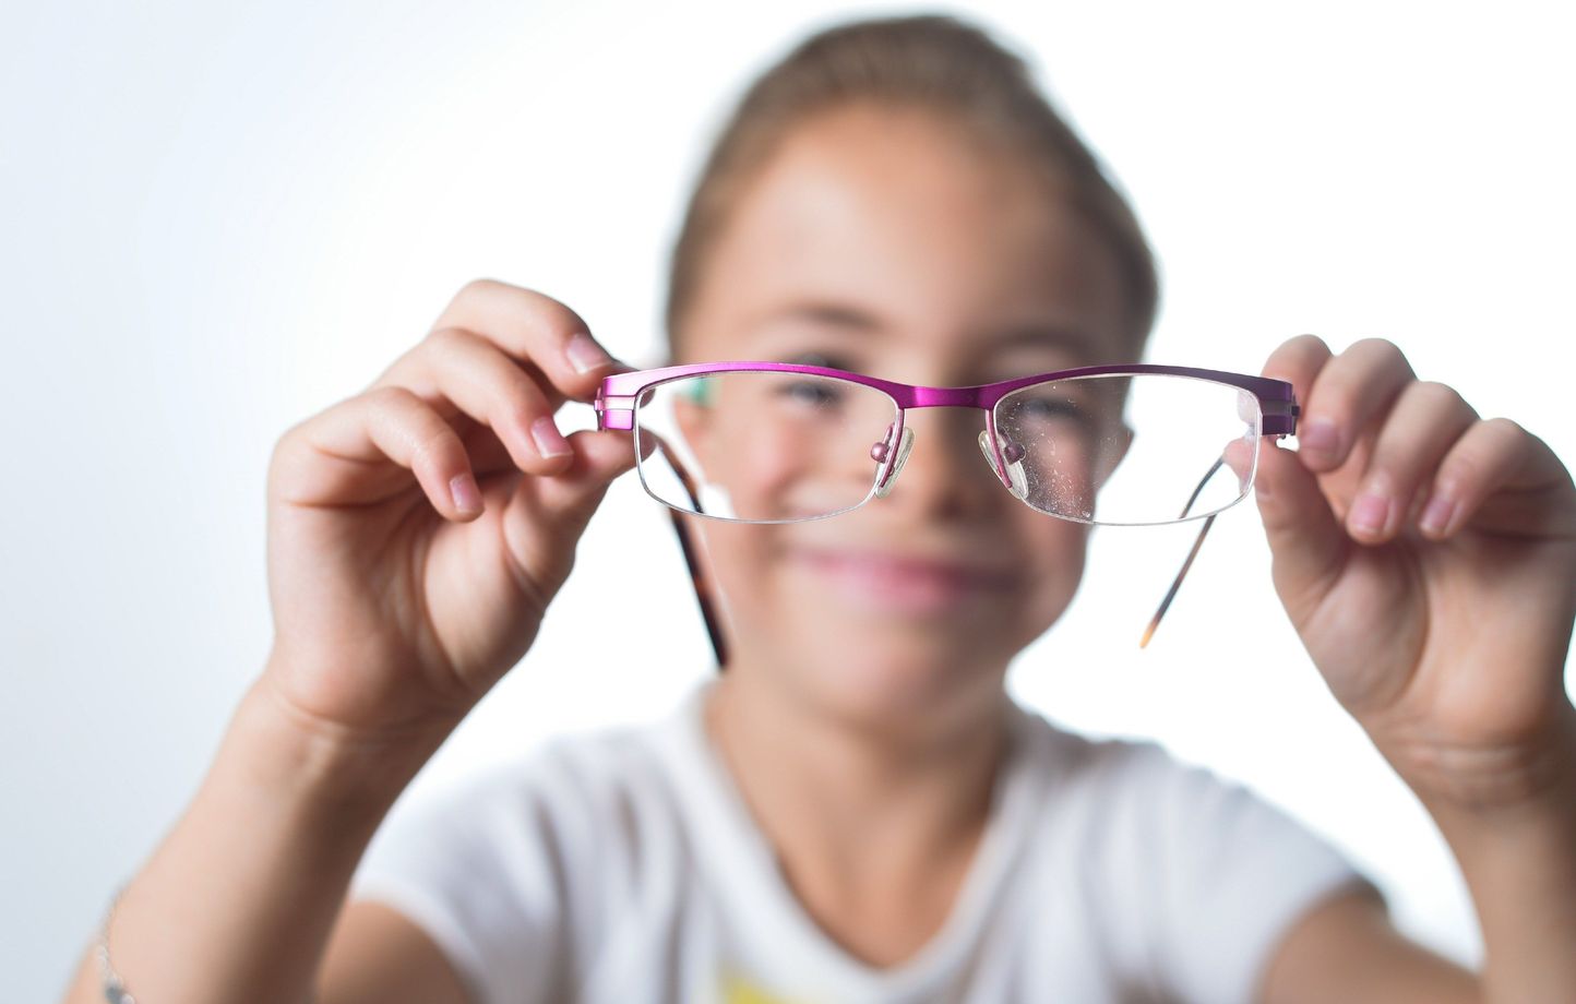
<path fill-rule="evenodd" d="M 914 446 L 913 408 L 979 408 L 987 468 L 1013 498 L 1089 525 L 1204 520 L 1144 630 L 1146 646 L 1215 515 L 1253 487 L 1262 437 L 1295 435 L 1291 383 L 1212 369 L 1083 366 L 969 388 L 796 363 L 701 363 L 602 380 L 597 429 L 634 432 L 646 493 L 668 506 L 712 649 L 725 648 L 682 515 L 827 519 L 884 498 Z"/>

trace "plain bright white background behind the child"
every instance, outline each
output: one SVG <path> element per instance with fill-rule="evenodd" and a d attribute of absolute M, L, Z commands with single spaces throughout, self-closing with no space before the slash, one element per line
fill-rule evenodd
<path fill-rule="evenodd" d="M 1303 331 L 1336 350 L 1388 337 L 1576 460 L 1567 25 L 1507 5 L 1269 8 L 971 13 L 1031 54 L 1132 194 L 1163 266 L 1149 361 L 1256 374 Z M 6 3 L 9 996 L 60 993 L 260 670 L 279 433 L 359 391 L 476 276 L 545 290 L 652 361 L 712 126 L 807 30 L 881 9 Z M 1459 875 L 1305 657 L 1251 503 L 1138 649 L 1191 542 L 1174 530 L 1095 534 L 1017 695 L 1253 785 L 1374 875 L 1407 931 L 1477 961 Z M 709 671 L 667 522 L 632 479 L 580 553 L 418 798 L 548 733 L 663 714 Z M 615 567 L 616 589 L 593 585 Z"/>

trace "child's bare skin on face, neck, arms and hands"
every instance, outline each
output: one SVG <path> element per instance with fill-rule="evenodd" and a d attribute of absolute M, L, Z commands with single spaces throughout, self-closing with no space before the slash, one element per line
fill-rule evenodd
<path fill-rule="evenodd" d="M 909 383 L 982 383 L 1083 361 L 1050 329 L 1116 344 L 1119 303 L 1098 235 L 1010 156 L 942 118 L 849 107 L 797 128 L 745 191 L 684 350 L 788 342 Z M 1007 347 L 1013 331 L 1039 334 Z M 632 467 L 627 433 L 564 441 L 552 422 L 618 367 L 564 304 L 476 281 L 369 388 L 279 440 L 268 664 L 110 925 L 139 999 L 465 999 L 424 933 L 345 906 L 345 889 L 400 791 L 520 662 Z M 1299 452 L 1261 446 L 1277 594 L 1456 854 L 1486 963 L 1466 972 L 1401 938 L 1377 898 L 1341 895 L 1284 936 L 1258 998 L 1576 999 L 1570 473 L 1515 422 L 1417 380 L 1390 342 L 1335 355 L 1300 336 L 1264 374 L 1305 407 Z M 1065 610 L 1086 544 L 994 481 L 977 415 L 913 422 L 886 500 L 820 523 L 697 523 L 734 651 L 708 728 L 808 913 L 879 966 L 952 908 L 1004 752 L 1002 675 Z M 1390 519 L 1370 531 L 1359 500 L 1374 490 Z M 1431 498 L 1453 511 L 1437 530 L 1417 522 Z M 827 571 L 812 552 L 865 564 Z M 872 552 L 977 575 L 894 572 Z M 66 999 L 102 999 L 91 954 Z"/>

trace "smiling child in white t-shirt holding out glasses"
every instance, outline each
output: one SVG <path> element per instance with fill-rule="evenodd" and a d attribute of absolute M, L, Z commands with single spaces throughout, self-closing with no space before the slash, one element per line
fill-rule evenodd
<path fill-rule="evenodd" d="M 972 386 L 1133 363 L 1154 304 L 1132 213 L 1021 65 L 920 17 L 826 32 L 750 91 L 670 333 L 676 361 Z M 1381 340 L 1270 355 L 1300 452 L 1262 441 L 1254 489 L 1313 660 L 1461 862 L 1483 974 L 1240 786 L 1007 698 L 1087 523 L 1004 490 L 966 408 L 913 411 L 856 511 L 689 519 L 728 659 L 675 716 L 380 831 L 635 463 L 627 432 L 550 418 L 623 369 L 569 307 L 481 281 L 284 435 L 268 667 L 110 917 L 139 1001 L 1576 999 L 1576 489 Z M 85 963 L 69 999 L 99 993 Z"/>

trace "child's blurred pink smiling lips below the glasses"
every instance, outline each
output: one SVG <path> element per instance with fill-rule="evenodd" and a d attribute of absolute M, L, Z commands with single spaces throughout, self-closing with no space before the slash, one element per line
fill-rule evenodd
<path fill-rule="evenodd" d="M 838 597 L 890 613 L 935 615 L 1010 589 L 1017 578 L 979 564 L 873 550 L 796 548 L 791 556 Z"/>

